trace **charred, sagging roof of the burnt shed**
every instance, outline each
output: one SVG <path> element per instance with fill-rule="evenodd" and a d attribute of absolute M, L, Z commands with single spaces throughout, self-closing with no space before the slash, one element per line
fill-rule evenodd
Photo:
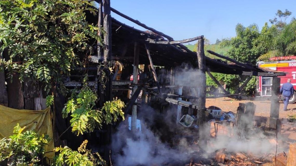
<path fill-rule="evenodd" d="M 139 64 L 149 64 L 147 49 L 145 48 L 146 43 L 149 47 L 153 64 L 156 66 L 174 67 L 186 63 L 194 68 L 198 68 L 197 53 L 189 50 L 181 43 L 198 40 L 203 38 L 203 36 L 182 41 L 174 41 L 170 36 L 153 28 L 147 27 L 138 20 L 134 20 L 113 8 L 111 8 L 111 11 L 146 29 L 153 30 L 141 31 L 112 18 L 112 58 L 114 60 L 133 64 L 134 43 L 138 42 L 140 43 Z M 96 24 L 96 21 L 98 20 L 97 18 L 98 16 L 96 15 L 91 19 L 91 22 Z M 221 56 L 213 51 L 208 52 L 216 56 Z M 224 74 L 239 74 L 248 76 L 276 77 L 285 75 L 283 72 L 259 68 L 258 66 L 252 66 L 251 64 L 243 64 L 228 57 L 222 56 L 222 58 L 231 61 L 232 63 L 222 61 L 221 59 L 206 57 L 206 70 Z"/>

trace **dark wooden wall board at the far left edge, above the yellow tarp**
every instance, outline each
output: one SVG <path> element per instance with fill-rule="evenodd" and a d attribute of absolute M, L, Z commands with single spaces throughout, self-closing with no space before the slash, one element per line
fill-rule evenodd
<path fill-rule="evenodd" d="M 0 42 L 0 47 L 1 47 L 1 42 Z M 3 59 L 3 53 L 0 53 L 0 58 Z M 0 66 L 0 104 L 4 106 L 8 106 L 4 66 Z"/>

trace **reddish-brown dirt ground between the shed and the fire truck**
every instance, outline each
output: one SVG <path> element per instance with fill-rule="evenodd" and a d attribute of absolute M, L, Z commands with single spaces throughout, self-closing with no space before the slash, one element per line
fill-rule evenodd
<path fill-rule="evenodd" d="M 221 108 L 223 111 L 232 111 L 234 113 L 237 112 L 237 107 L 239 103 L 245 102 L 253 102 L 256 105 L 256 112 L 255 115 L 258 116 L 266 116 L 269 117 L 270 115 L 270 101 L 250 101 L 250 100 L 236 100 L 231 99 L 228 97 L 218 98 L 218 99 L 207 99 L 206 100 L 206 107 L 211 105 Z M 284 104 L 280 102 L 280 118 L 289 118 L 290 115 L 296 115 L 296 103 L 288 105 L 288 111 L 283 111 Z"/>

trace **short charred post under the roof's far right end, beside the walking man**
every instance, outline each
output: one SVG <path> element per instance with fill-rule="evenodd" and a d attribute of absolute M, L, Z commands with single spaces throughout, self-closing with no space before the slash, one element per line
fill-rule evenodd
<path fill-rule="evenodd" d="M 278 78 L 278 77 L 272 78 L 271 107 L 270 107 L 270 117 L 271 118 L 279 118 L 280 84 L 281 84 L 280 78 Z"/>

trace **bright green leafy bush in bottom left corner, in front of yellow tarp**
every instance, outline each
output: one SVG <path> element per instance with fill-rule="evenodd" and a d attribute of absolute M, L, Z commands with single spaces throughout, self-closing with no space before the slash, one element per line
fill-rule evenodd
<path fill-rule="evenodd" d="M 39 166 L 48 136 L 38 136 L 35 131 L 25 131 L 15 126 L 9 139 L 0 140 L 0 161 L 7 160 L 8 166 Z"/>

